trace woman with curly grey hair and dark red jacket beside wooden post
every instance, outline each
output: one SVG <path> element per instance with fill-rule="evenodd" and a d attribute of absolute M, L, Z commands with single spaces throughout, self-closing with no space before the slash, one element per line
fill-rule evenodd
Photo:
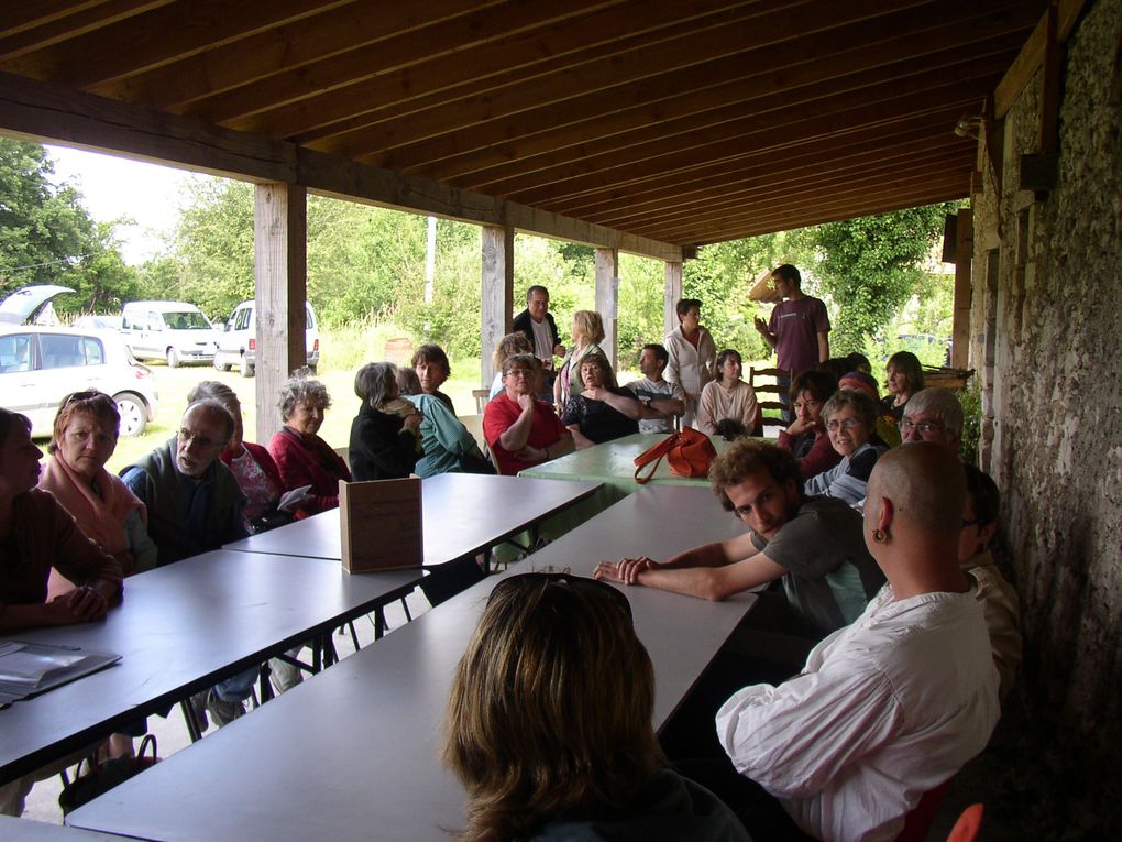
<path fill-rule="evenodd" d="M 284 427 L 269 441 L 269 456 L 280 472 L 285 488 L 310 486 L 312 495 L 293 514 L 297 520 L 339 505 L 339 481 L 351 474 L 331 446 L 319 437 L 323 414 L 331 405 L 327 386 L 310 379 L 303 369 L 280 387 Z"/>

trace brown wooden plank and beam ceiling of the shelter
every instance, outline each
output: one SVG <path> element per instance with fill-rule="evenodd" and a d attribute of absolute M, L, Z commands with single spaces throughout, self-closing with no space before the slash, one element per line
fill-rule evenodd
<path fill-rule="evenodd" d="M 0 131 L 673 260 L 965 198 L 1048 0 L 13 6 Z"/>

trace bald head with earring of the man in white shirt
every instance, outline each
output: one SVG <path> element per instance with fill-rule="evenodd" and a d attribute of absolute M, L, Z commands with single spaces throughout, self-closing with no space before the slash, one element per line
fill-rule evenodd
<path fill-rule="evenodd" d="M 889 450 L 873 468 L 868 500 L 883 497 L 892 501 L 899 525 L 957 537 L 966 504 L 966 472 L 945 447 L 907 442 Z"/>

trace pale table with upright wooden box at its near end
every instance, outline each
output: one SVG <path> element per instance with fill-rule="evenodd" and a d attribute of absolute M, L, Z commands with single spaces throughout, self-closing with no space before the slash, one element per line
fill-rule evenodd
<path fill-rule="evenodd" d="M 475 556 L 540 524 L 599 488 L 592 482 L 543 482 L 480 474 L 422 481 L 424 564 Z M 227 549 L 341 559 L 339 510 L 227 544 Z"/>

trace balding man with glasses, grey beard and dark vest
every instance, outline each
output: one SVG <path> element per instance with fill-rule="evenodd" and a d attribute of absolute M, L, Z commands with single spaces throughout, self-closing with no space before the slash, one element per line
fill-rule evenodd
<path fill-rule="evenodd" d="M 148 534 L 157 564 L 169 565 L 247 536 L 245 495 L 219 455 L 233 434 L 233 418 L 215 400 L 192 404 L 180 432 L 121 478 L 148 506 Z"/>

